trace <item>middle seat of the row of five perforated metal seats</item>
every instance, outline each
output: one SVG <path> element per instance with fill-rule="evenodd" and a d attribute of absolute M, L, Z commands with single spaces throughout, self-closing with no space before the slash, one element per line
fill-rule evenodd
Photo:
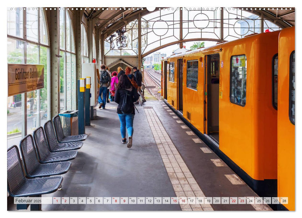
<path fill-rule="evenodd" d="M 77 156 L 77 151 L 74 150 L 50 152 L 44 131 L 34 131 L 33 137 L 39 162 L 42 164 L 72 160 Z"/>

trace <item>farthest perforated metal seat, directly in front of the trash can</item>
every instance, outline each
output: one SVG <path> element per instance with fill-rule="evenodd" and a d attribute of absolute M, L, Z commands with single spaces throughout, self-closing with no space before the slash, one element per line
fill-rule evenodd
<path fill-rule="evenodd" d="M 86 134 L 65 136 L 59 115 L 53 117 L 53 126 L 59 143 L 84 141 L 87 138 Z"/>

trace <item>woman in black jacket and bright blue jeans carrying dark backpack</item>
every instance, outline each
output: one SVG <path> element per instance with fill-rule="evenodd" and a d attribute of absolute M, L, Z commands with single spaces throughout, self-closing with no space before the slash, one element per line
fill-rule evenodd
<path fill-rule="evenodd" d="M 118 103 L 117 113 L 120 121 L 122 143 L 126 143 L 126 128 L 128 132 L 127 147 L 132 146 L 133 119 L 135 115 L 134 102 L 139 95 L 127 75 L 121 75 L 115 92 L 114 101 Z"/>

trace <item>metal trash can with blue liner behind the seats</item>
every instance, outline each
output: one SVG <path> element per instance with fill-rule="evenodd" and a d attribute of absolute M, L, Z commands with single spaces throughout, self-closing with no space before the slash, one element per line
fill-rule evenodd
<path fill-rule="evenodd" d="M 64 135 L 78 135 L 78 111 L 62 111 L 59 113 Z"/>

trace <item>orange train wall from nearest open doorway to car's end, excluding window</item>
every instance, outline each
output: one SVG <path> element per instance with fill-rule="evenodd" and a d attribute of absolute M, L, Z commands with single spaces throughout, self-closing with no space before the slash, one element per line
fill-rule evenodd
<path fill-rule="evenodd" d="M 220 149 L 254 180 L 276 179 L 276 120 L 272 106 L 272 57 L 279 32 L 222 45 Z M 231 57 L 246 55 L 246 103 L 230 102 Z"/>

